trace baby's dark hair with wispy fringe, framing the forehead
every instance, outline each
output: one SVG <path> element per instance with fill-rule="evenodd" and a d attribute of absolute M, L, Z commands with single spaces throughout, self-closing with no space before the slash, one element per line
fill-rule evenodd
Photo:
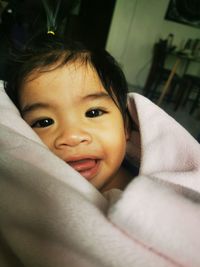
<path fill-rule="evenodd" d="M 86 47 L 82 43 L 65 40 L 52 34 L 34 38 L 12 54 L 5 90 L 19 108 L 20 88 L 35 70 L 50 71 L 69 62 L 90 64 L 97 72 L 103 87 L 125 116 L 128 86 L 125 75 L 115 59 L 105 50 Z M 56 64 L 56 67 L 55 67 Z"/>

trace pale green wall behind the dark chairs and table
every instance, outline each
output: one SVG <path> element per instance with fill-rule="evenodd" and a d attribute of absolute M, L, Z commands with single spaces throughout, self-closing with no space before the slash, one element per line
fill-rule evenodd
<path fill-rule="evenodd" d="M 148 75 L 153 44 L 174 34 L 173 44 L 200 38 L 200 29 L 164 19 L 169 0 L 117 0 L 106 49 L 121 64 L 129 84 L 143 87 Z M 173 58 L 167 62 L 173 64 Z M 198 63 L 189 72 L 198 73 Z"/>

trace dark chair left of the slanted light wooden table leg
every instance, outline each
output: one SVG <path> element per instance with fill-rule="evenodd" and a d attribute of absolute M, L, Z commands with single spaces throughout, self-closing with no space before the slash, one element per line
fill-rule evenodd
<path fill-rule="evenodd" d="M 174 47 L 172 47 L 171 49 L 173 48 Z M 164 64 L 166 56 L 169 52 L 171 52 L 171 49 L 169 51 L 167 46 L 167 40 L 160 39 L 159 42 L 154 44 L 152 64 L 143 89 L 144 95 L 150 99 L 156 97 L 156 91 L 159 85 L 167 81 L 170 75 L 171 70 L 166 69 L 164 67 Z M 179 76 L 175 74 L 168 93 L 168 100 L 172 99 L 174 89 L 179 80 Z"/>

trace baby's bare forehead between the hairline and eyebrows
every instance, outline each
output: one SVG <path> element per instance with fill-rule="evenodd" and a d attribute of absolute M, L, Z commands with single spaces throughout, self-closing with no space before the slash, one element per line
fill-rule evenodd
<path fill-rule="evenodd" d="M 23 83 L 21 94 L 57 94 L 63 89 L 70 97 L 105 91 L 96 70 L 89 63 L 78 61 L 33 71 Z"/>

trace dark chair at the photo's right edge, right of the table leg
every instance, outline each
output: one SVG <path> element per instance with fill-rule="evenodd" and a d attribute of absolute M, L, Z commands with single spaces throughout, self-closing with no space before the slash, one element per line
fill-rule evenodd
<path fill-rule="evenodd" d="M 191 96 L 194 96 L 192 98 Z M 175 101 L 174 110 L 182 104 L 185 106 L 188 101 L 192 101 L 192 105 L 189 113 L 193 114 L 195 109 L 199 105 L 200 99 L 200 78 L 191 74 L 185 74 L 181 79 L 180 86 L 178 88 L 177 96 Z"/>

